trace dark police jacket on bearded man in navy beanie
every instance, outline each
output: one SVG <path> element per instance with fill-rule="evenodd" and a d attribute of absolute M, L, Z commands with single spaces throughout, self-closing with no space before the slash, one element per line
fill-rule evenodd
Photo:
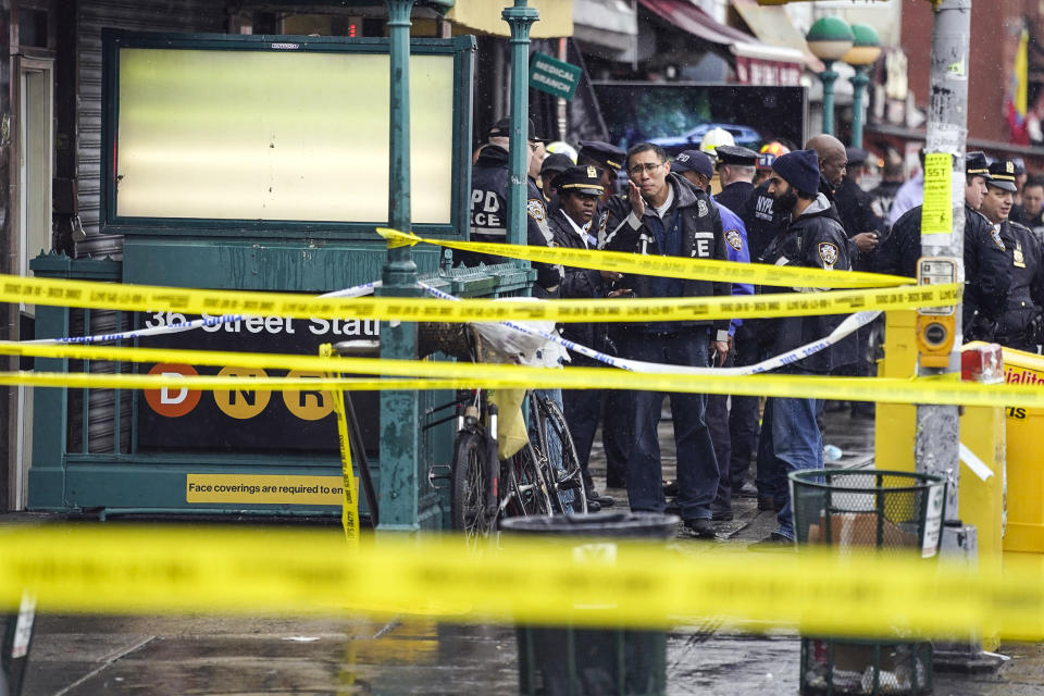
<path fill-rule="evenodd" d="M 765 252 L 765 262 L 838 272 L 852 270 L 848 237 L 824 195 L 817 196 L 805 212 L 772 240 Z M 761 291 L 801 293 L 818 289 L 823 288 L 762 287 Z M 759 334 L 763 333 L 766 338 L 771 338 L 771 355 L 781 355 L 823 338 L 836 328 L 842 320 L 843 318 L 837 315 L 782 316 L 771 320 L 767 326 L 770 331 L 759 331 Z M 788 370 L 828 373 L 841 365 L 852 364 L 856 361 L 856 345 L 850 338 L 852 336 L 797 361 Z"/>

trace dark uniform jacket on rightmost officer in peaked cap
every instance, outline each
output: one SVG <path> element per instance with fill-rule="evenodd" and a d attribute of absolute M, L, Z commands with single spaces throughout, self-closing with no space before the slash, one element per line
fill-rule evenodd
<path fill-rule="evenodd" d="M 1036 236 L 1019 223 L 1004 221 L 1000 235 L 1008 239 L 1011 288 L 996 340 L 1011 348 L 1035 350 L 1037 337 L 1030 335 L 1030 325 L 1044 308 L 1044 248 Z"/>

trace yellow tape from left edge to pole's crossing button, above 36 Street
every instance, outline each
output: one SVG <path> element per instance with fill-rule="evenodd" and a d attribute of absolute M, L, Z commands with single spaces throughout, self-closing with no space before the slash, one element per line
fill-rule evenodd
<path fill-rule="evenodd" d="M 815 269 L 804 269 L 813 271 Z M 842 277 L 844 273 L 832 274 Z M 809 276 L 803 286 L 821 283 Z M 873 309 L 946 307 L 960 301 L 960 284 L 826 293 L 782 293 L 691 298 L 638 298 L 505 302 L 426 297 L 324 298 L 290 293 L 201 290 L 0 275 L 0 301 L 87 307 L 135 312 L 161 310 L 297 319 L 344 318 L 378 321 L 648 322 L 847 314 Z"/>

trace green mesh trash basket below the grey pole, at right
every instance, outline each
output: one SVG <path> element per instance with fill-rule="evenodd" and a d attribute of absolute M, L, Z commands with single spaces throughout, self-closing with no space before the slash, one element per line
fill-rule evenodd
<path fill-rule="evenodd" d="M 939 552 L 946 501 L 941 476 L 806 470 L 791 473 L 790 485 L 798 545 L 832 546 L 842 554 L 875 548 L 931 558 Z M 801 694 L 931 693 L 930 643 L 801 637 Z"/>

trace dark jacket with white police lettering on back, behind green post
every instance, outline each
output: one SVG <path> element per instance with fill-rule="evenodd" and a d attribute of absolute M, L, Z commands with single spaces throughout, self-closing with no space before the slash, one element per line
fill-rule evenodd
<path fill-rule="evenodd" d="M 531 178 L 526 191 L 526 244 L 546 247 L 551 233 L 547 227 L 547 208 L 544 195 Z M 508 151 L 487 145 L 478 153 L 471 170 L 471 240 L 504 244 L 508 238 Z M 453 261 L 465 266 L 478 263 L 504 263 L 502 257 L 472 251 L 455 251 Z M 536 285 L 534 297 L 557 297 L 561 269 L 534 263 Z"/>

